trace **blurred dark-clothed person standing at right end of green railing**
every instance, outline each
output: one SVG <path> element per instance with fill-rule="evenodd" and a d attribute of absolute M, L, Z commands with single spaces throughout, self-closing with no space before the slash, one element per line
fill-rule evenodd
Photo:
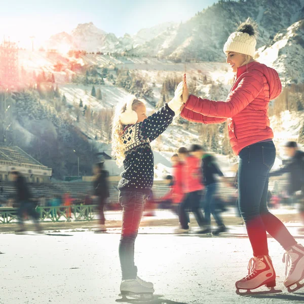
<path fill-rule="evenodd" d="M 108 171 L 103 169 L 103 162 L 97 163 L 93 167 L 93 191 L 94 200 L 99 205 L 99 224 L 100 228 L 96 232 L 105 232 L 105 218 L 104 218 L 104 205 L 109 195 L 108 187 Z"/>

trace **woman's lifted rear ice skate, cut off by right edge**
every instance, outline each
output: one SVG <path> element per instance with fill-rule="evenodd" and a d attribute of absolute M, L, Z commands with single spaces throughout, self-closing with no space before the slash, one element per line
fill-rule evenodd
<path fill-rule="evenodd" d="M 294 245 L 284 253 L 283 263 L 286 263 L 284 285 L 287 287 L 289 292 L 296 291 L 304 286 L 304 247 L 302 245 Z M 290 270 L 287 276 L 288 267 Z M 294 288 L 291 286 L 296 285 Z"/>

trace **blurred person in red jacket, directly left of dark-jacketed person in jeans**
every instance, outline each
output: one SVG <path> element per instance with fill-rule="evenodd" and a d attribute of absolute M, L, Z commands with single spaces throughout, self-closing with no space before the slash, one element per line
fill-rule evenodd
<path fill-rule="evenodd" d="M 190 155 L 187 151 L 184 152 L 183 148 L 178 150 L 178 154 L 184 158 L 184 174 L 183 184 L 185 196 L 179 205 L 179 223 L 180 228 L 176 230 L 177 233 L 185 233 L 189 231 L 189 217 L 187 209 L 190 209 L 204 231 L 205 219 L 200 209 L 200 202 L 203 190 L 201 162 L 203 156 L 203 149 L 198 144 L 193 144 L 190 148 Z"/>

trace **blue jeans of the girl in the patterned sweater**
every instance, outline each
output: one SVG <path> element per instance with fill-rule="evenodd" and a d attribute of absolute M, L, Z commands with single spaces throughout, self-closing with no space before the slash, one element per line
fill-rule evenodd
<path fill-rule="evenodd" d="M 119 203 L 123 207 L 122 234 L 119 243 L 119 258 L 122 279 L 135 279 L 134 244 L 147 195 L 138 191 L 120 191 Z"/>

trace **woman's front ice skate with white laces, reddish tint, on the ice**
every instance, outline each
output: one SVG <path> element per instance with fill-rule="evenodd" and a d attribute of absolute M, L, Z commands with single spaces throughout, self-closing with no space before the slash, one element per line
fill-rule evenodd
<path fill-rule="evenodd" d="M 270 287 L 267 291 L 255 291 L 262 285 Z M 259 255 L 258 257 L 253 257 L 248 263 L 248 276 L 240 281 L 236 282 L 237 294 L 240 295 L 250 295 L 250 294 L 265 294 L 265 293 L 278 293 L 282 290 L 276 290 L 276 273 L 272 264 L 272 260 L 269 255 Z M 246 290 L 244 292 L 240 290 Z"/>

